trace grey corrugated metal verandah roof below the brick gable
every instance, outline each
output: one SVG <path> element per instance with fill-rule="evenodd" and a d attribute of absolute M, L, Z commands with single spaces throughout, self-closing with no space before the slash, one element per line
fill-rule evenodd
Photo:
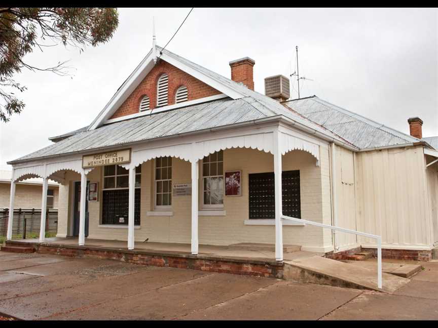
<path fill-rule="evenodd" d="M 80 131 L 64 140 L 14 161 L 169 137 L 247 122 L 259 118 L 277 116 L 278 114 L 283 114 L 286 117 L 305 122 L 304 118 L 287 110 L 282 105 L 278 105 L 281 111 L 277 109 L 273 110 L 272 106 L 267 106 L 262 101 L 254 99 L 253 97 L 245 97 L 236 100 L 224 98 L 123 120 L 104 125 L 95 130 Z M 311 122 L 306 122 L 306 124 L 317 130 L 324 131 L 324 129 Z M 325 134 L 333 135 L 330 132 L 324 132 Z M 336 138 L 336 136 L 334 137 Z"/>

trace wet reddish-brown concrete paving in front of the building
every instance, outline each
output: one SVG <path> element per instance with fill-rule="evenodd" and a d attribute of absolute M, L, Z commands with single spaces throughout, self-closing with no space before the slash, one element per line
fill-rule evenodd
<path fill-rule="evenodd" d="M 394 295 L 0 252 L 0 315 L 69 319 L 438 319 L 438 262 Z"/>

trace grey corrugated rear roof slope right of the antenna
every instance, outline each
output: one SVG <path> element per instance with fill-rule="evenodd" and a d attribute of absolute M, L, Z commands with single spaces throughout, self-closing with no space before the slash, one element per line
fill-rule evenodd
<path fill-rule="evenodd" d="M 358 148 L 385 147 L 421 141 L 316 96 L 290 100 L 283 104 Z"/>

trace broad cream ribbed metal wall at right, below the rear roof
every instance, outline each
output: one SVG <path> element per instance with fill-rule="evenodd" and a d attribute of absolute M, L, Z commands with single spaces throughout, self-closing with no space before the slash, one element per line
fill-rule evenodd
<path fill-rule="evenodd" d="M 422 146 L 356 154 L 357 230 L 382 236 L 393 249 L 431 245 Z M 375 240 L 359 237 L 362 246 Z"/>

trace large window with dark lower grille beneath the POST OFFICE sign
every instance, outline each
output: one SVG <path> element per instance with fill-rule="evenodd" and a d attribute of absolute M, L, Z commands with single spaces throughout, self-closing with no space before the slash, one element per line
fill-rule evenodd
<path fill-rule="evenodd" d="M 141 165 L 135 168 L 134 224 L 140 224 Z M 102 224 L 128 224 L 129 171 L 103 167 Z"/>

